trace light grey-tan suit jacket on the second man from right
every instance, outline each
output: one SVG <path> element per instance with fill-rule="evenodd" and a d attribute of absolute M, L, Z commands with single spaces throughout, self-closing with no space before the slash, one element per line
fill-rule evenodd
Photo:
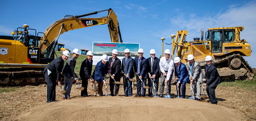
<path fill-rule="evenodd" d="M 204 78 L 204 73 L 200 67 L 200 64 L 196 61 L 192 64 L 192 74 L 193 74 L 193 79 L 203 83 L 203 78 Z M 191 76 L 191 70 L 190 70 L 190 63 L 189 61 L 187 62 L 187 70 L 188 70 L 188 75 Z"/>

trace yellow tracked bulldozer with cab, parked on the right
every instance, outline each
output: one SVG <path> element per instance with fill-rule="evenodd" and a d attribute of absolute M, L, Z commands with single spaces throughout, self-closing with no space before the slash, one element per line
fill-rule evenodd
<path fill-rule="evenodd" d="M 222 80 L 251 80 L 253 78 L 252 68 L 243 56 L 250 56 L 252 51 L 250 44 L 245 39 L 240 39 L 242 30 L 244 26 L 209 28 L 203 40 L 204 31 L 201 29 L 201 40 L 194 38 L 193 41 L 186 41 L 188 31 L 177 31 L 176 36 L 171 35 L 172 58 L 176 52 L 176 56 L 179 56 L 181 62 L 186 65 L 188 54 L 193 54 L 201 68 L 204 68 L 205 57 L 211 55 L 212 63 L 218 69 Z"/>

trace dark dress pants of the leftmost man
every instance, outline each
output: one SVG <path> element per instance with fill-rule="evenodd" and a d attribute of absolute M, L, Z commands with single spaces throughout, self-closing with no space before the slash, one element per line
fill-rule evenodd
<path fill-rule="evenodd" d="M 56 77 L 50 78 L 47 71 L 44 72 L 44 77 L 47 83 L 47 100 L 56 99 Z"/>

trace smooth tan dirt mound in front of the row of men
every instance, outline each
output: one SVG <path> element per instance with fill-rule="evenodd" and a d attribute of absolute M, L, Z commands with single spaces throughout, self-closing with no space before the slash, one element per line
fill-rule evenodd
<path fill-rule="evenodd" d="M 46 103 L 4 120 L 242 120 L 224 106 L 189 99 L 82 97 Z"/>

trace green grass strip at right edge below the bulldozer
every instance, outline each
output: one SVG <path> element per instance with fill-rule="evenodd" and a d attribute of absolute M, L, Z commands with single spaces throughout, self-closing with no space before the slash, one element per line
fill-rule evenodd
<path fill-rule="evenodd" d="M 236 80 L 235 82 L 221 82 L 220 86 L 223 87 L 240 87 L 247 90 L 256 91 L 256 78 L 254 77 L 253 80 Z"/>

